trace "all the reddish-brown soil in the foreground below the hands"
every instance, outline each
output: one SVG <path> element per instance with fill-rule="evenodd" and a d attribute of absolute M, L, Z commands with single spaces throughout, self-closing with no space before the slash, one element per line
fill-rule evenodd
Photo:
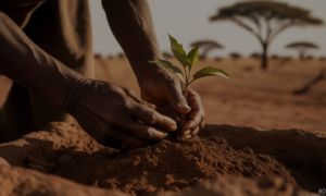
<path fill-rule="evenodd" d="M 64 193 L 55 187 L 66 187 L 62 185 L 66 181 L 13 168 L 23 167 L 87 185 L 121 189 L 129 195 L 190 191 L 213 176 L 220 177 L 185 194 L 196 195 L 193 193 L 204 193 L 205 189 L 209 195 L 215 189 L 216 193 L 230 192 L 228 195 L 234 195 L 234 189 L 242 195 L 268 195 L 272 188 L 274 194 L 292 195 L 294 187 L 317 192 L 326 184 L 323 179 L 325 147 L 324 133 L 208 125 L 201 132 L 201 138 L 177 139 L 176 143 L 163 140 L 147 148 L 117 151 L 100 146 L 75 125 L 51 123 L 45 131 L 0 145 L 0 189 L 8 191 L 5 184 L 1 184 L 3 181 L 13 188 L 8 193 L 14 193 L 14 196 L 26 189 L 39 191 L 39 186 L 53 195 Z M 9 177 L 12 172 L 16 174 Z M 261 179 L 263 175 L 280 177 L 291 185 L 281 180 Z M 251 180 L 237 179 L 242 176 Z M 37 185 L 33 185 L 33 189 L 28 183 Z M 50 187 L 55 183 L 58 185 Z M 72 186 L 74 189 L 80 185 Z M 79 192 L 87 195 L 87 189 L 88 186 L 80 186 Z"/>

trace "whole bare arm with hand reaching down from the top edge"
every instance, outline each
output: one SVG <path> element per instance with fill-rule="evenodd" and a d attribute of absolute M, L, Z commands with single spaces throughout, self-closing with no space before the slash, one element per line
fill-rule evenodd
<path fill-rule="evenodd" d="M 190 90 L 186 100 L 178 79 L 159 65 L 148 63 L 148 60 L 161 58 L 161 51 L 147 0 L 102 0 L 102 4 L 109 25 L 137 76 L 141 97 L 154 105 L 170 105 L 179 113 L 188 113 L 181 135 L 190 131 L 198 133 L 204 118 L 198 94 Z"/>

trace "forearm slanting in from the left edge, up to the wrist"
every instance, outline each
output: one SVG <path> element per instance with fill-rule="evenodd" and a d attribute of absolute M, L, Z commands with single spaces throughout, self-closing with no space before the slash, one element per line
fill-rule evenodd
<path fill-rule="evenodd" d="M 83 76 L 37 47 L 0 11 L 0 73 L 35 90 L 62 109 Z"/>

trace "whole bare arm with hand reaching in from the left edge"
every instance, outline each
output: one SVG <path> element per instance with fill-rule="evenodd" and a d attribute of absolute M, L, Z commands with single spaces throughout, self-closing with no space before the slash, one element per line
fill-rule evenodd
<path fill-rule="evenodd" d="M 140 147 L 176 130 L 172 119 L 141 105 L 130 89 L 87 78 L 49 56 L 2 12 L 0 73 L 48 97 L 105 146 Z"/>

